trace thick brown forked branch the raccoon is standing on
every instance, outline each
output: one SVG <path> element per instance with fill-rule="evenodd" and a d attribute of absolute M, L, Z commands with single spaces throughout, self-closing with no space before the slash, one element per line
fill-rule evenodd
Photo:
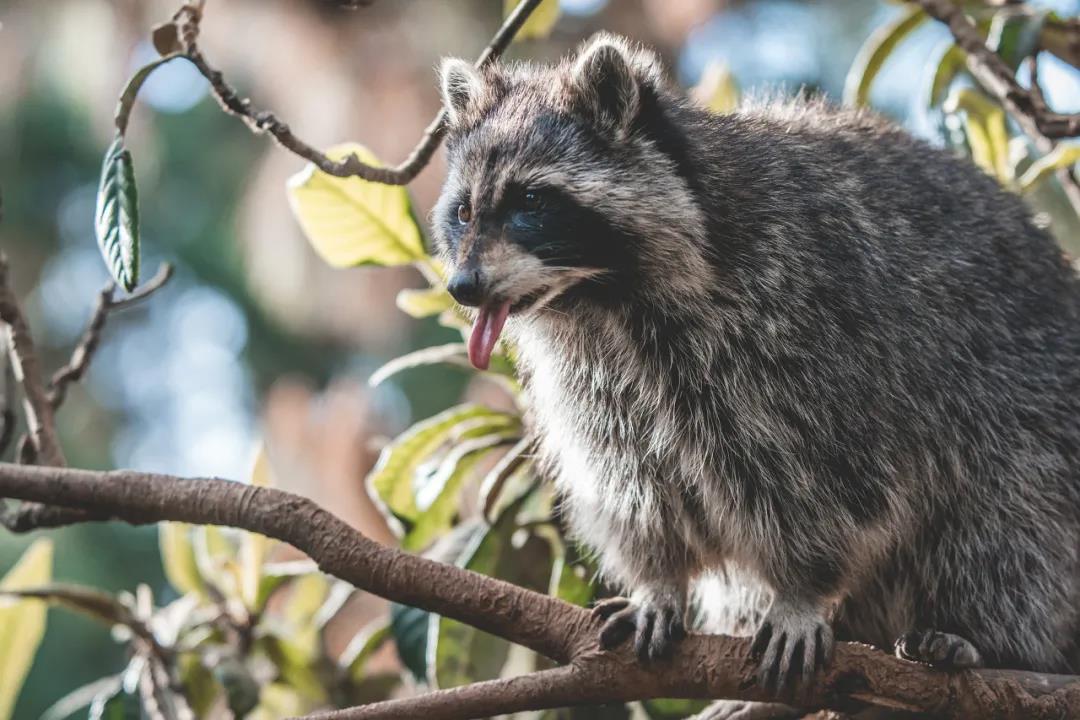
<path fill-rule="evenodd" d="M 673 658 L 643 667 L 630 649 L 596 647 L 599 621 L 509 583 L 384 547 L 310 500 L 220 479 L 99 473 L 0 463 L 0 498 L 63 503 L 132 524 L 226 525 L 295 545 L 325 572 L 380 597 L 440 613 L 567 667 L 391 701 L 324 718 L 460 719 L 650 697 L 772 699 L 753 681 L 745 639 L 691 636 Z M 944 674 L 867 646 L 841 643 L 807 707 L 862 702 L 945 718 L 1080 717 L 1080 678 L 982 670 Z"/>

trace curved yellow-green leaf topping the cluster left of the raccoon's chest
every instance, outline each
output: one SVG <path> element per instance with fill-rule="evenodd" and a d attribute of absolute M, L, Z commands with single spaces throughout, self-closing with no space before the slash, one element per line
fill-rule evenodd
<path fill-rule="evenodd" d="M 458 405 L 416 423 L 383 448 L 375 470 L 367 476 L 369 494 L 383 508 L 383 515 L 416 521 L 416 474 L 421 463 L 454 436 L 461 423 L 474 418 L 497 415 L 480 405 Z"/>

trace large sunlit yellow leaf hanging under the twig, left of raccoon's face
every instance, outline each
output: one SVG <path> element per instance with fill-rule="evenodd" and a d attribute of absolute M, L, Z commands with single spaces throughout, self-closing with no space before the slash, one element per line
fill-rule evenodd
<path fill-rule="evenodd" d="M 355 154 L 379 164 L 370 150 L 355 144 L 326 154 L 334 160 Z M 426 257 L 404 187 L 334 177 L 309 164 L 288 179 L 287 189 L 303 234 L 332 266 L 400 266 Z"/>

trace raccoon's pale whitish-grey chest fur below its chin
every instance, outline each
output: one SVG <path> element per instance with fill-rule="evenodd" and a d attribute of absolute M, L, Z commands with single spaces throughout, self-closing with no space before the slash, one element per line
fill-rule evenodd
<path fill-rule="evenodd" d="M 592 352 L 575 353 L 543 336 L 518 338 L 541 454 L 571 526 L 594 545 L 663 536 L 705 562 L 723 527 L 707 444 L 688 432 L 685 404 L 627 350 L 590 340 Z"/>

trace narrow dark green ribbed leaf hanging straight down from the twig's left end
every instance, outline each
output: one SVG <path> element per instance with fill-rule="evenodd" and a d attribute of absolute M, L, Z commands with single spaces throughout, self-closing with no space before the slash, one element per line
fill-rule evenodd
<path fill-rule="evenodd" d="M 105 152 L 94 213 L 97 245 L 113 280 L 129 293 L 138 284 L 138 192 L 135 168 L 117 136 Z"/>

